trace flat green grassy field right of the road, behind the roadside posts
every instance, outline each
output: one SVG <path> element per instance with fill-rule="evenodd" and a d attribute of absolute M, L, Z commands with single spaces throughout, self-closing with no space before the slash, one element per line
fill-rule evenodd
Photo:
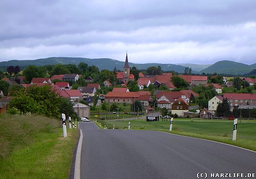
<path fill-rule="evenodd" d="M 130 122 L 131 129 L 169 132 L 169 122 L 166 121 L 146 122 L 131 120 Z M 129 121 L 98 121 L 97 125 L 101 128 L 103 128 L 104 125 L 108 128 L 113 128 L 113 125 L 115 125 L 115 128 L 127 129 L 128 123 Z M 241 123 L 239 121 L 236 141 L 232 141 L 233 121 L 228 120 L 191 121 L 191 119 L 174 119 L 171 133 L 218 141 L 256 151 L 255 120 L 251 120 L 250 122 L 243 120 Z"/>

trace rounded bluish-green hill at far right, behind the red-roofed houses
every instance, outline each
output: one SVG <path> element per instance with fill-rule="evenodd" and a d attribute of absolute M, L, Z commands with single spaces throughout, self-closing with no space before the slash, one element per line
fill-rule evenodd
<path fill-rule="evenodd" d="M 216 72 L 217 74 L 242 75 L 253 70 L 253 65 L 256 64 L 247 65 L 234 61 L 223 60 L 212 64 L 208 68 L 200 71 L 200 73 L 213 74 Z"/>

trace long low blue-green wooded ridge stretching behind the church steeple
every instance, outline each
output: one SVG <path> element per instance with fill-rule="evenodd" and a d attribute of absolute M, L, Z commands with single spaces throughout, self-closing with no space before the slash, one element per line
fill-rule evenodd
<path fill-rule="evenodd" d="M 10 61 L 2 61 L 0 62 L 0 69 L 6 69 L 7 66 L 16 66 L 19 65 L 21 68 L 28 65 L 42 66 L 42 65 L 53 65 L 53 64 L 76 64 L 78 65 L 80 62 L 87 63 L 88 65 L 95 65 L 99 68 L 99 70 L 113 70 L 115 67 L 118 70 L 123 69 L 124 61 L 118 61 L 110 58 L 98 58 L 98 59 L 90 59 L 90 58 L 73 58 L 73 57 L 50 57 L 50 58 L 42 58 L 36 60 L 10 60 Z M 161 64 L 161 63 L 145 63 L 145 64 L 137 64 L 129 62 L 130 66 L 136 66 L 138 70 L 145 70 L 151 66 L 161 66 L 163 71 L 175 71 L 178 73 L 184 72 L 185 67 L 176 64 Z"/>

